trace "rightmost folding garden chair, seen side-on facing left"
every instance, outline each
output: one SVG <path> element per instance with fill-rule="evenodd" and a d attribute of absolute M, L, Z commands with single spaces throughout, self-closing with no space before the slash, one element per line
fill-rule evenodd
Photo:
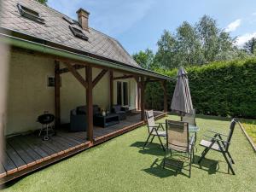
<path fill-rule="evenodd" d="M 230 141 L 233 136 L 234 128 L 236 125 L 237 120 L 232 119 L 230 123 L 230 133 L 228 136 L 225 136 L 224 134 L 215 132 L 215 131 L 208 131 L 214 133 L 213 137 L 205 136 L 207 138 L 210 138 L 210 141 L 207 140 L 201 140 L 200 145 L 205 147 L 204 151 L 201 153 L 201 158 L 198 161 L 198 163 L 201 163 L 201 160 L 207 155 L 210 149 L 218 151 L 223 154 L 224 159 L 226 160 L 228 164 L 228 172 L 232 172 L 233 175 L 235 175 L 235 172 L 232 168 L 232 164 L 235 164 L 234 160 L 232 159 L 229 148 L 230 148 Z M 224 140 L 223 137 L 226 137 Z"/>

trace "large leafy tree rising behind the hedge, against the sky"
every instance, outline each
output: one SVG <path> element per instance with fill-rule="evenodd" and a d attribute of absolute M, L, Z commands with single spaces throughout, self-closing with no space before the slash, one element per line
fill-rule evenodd
<path fill-rule="evenodd" d="M 165 30 L 154 61 L 162 68 L 172 68 L 230 60 L 238 55 L 235 40 L 218 28 L 216 20 L 204 15 L 194 26 L 184 21 L 175 34 Z"/>

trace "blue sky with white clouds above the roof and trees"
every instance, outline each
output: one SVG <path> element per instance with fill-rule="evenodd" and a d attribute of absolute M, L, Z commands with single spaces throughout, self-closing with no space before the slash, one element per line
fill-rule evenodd
<path fill-rule="evenodd" d="M 49 0 L 49 7 L 77 18 L 79 8 L 90 12 L 90 26 L 117 38 L 130 54 L 157 49 L 163 30 L 175 32 L 184 20 L 194 24 L 202 15 L 237 37 L 241 46 L 256 37 L 255 0 Z"/>

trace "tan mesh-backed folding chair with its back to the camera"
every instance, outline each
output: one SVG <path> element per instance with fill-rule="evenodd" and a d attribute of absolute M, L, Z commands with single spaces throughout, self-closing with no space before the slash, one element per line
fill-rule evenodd
<path fill-rule="evenodd" d="M 194 161 L 194 139 L 194 135 L 189 137 L 189 124 L 187 122 L 166 119 L 166 150 L 163 167 L 166 166 L 168 151 L 170 151 L 171 156 L 172 152 L 185 154 L 183 157 L 189 160 L 189 177 L 191 177 L 191 165 Z M 176 164 L 170 165 L 177 166 Z M 177 166 L 177 168 L 182 167 Z"/>

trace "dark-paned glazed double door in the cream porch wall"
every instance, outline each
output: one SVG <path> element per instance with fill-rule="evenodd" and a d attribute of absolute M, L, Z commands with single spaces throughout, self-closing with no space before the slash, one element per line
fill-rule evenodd
<path fill-rule="evenodd" d="M 129 83 L 125 81 L 117 82 L 117 104 L 129 106 Z"/>

